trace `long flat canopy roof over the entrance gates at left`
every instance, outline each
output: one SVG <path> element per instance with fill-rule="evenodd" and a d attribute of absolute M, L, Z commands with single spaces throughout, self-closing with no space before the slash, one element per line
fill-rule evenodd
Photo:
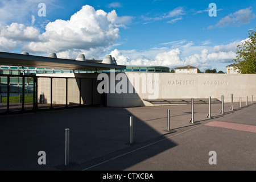
<path fill-rule="evenodd" d="M 126 69 L 125 65 L 92 63 L 92 60 L 77 61 L 71 59 L 23 55 L 19 53 L 9 52 L 0 52 L 0 65 L 69 69 L 78 71 L 105 71 L 110 69 Z"/>

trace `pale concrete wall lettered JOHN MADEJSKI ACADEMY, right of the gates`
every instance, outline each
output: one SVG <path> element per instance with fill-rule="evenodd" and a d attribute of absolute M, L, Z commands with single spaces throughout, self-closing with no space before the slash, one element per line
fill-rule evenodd
<path fill-rule="evenodd" d="M 129 74 L 134 73 L 118 73 Z M 242 97 L 245 101 L 251 101 L 251 96 L 256 97 L 256 75 L 236 75 L 236 74 L 189 74 L 189 73 L 137 73 L 135 78 L 140 78 L 138 93 L 109 93 L 107 99 L 108 106 L 130 107 L 130 106 L 150 106 L 150 102 L 143 101 L 153 94 L 147 90 L 142 93 L 143 86 L 154 88 L 158 92 L 156 99 L 173 99 L 173 98 L 217 98 L 221 100 L 224 95 L 224 102 L 230 102 L 230 94 L 233 94 L 234 102 L 238 102 Z M 146 80 L 145 78 L 146 77 Z M 115 85 L 120 82 L 115 81 Z M 129 82 L 135 87 L 135 82 L 129 78 Z M 255 99 L 256 101 L 256 99 Z"/>

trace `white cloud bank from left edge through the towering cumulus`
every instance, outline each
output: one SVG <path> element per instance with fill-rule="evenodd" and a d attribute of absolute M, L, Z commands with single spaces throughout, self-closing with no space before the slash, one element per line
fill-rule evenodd
<path fill-rule="evenodd" d="M 34 24 L 35 16 L 31 15 L 31 19 Z M 63 58 L 75 59 L 77 53 L 85 53 L 97 59 L 115 45 L 119 27 L 125 27 L 132 19 L 131 16 L 117 16 L 115 10 L 106 13 L 86 5 L 69 20 L 48 22 L 42 34 L 37 28 L 21 23 L 0 24 L 0 44 L 9 42 L 6 47 L 0 46 L 0 51 L 22 47 L 22 51 L 39 55 L 56 52 Z"/>

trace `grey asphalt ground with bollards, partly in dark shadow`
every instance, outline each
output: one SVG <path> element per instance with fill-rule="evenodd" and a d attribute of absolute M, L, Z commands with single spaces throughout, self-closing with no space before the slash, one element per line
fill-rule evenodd
<path fill-rule="evenodd" d="M 211 122 L 256 126 L 256 105 L 208 104 L 152 107 L 84 107 L 0 116 L 1 171 L 255 171 L 254 130 L 209 126 Z M 170 131 L 167 110 L 170 109 Z M 134 142 L 130 144 L 130 116 Z M 229 125 L 227 125 L 229 126 Z M 70 130 L 69 165 L 65 129 Z M 39 151 L 46 164 L 39 165 Z M 209 164 L 215 152 L 216 164 Z"/>

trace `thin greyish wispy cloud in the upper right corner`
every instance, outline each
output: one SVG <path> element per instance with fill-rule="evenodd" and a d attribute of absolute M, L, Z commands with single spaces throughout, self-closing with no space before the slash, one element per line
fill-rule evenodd
<path fill-rule="evenodd" d="M 241 24 L 250 23 L 250 19 L 254 19 L 255 17 L 251 7 L 247 7 L 246 9 L 241 9 L 225 16 L 215 25 L 215 27 L 239 27 Z M 209 26 L 208 28 L 213 28 L 213 26 Z"/>

